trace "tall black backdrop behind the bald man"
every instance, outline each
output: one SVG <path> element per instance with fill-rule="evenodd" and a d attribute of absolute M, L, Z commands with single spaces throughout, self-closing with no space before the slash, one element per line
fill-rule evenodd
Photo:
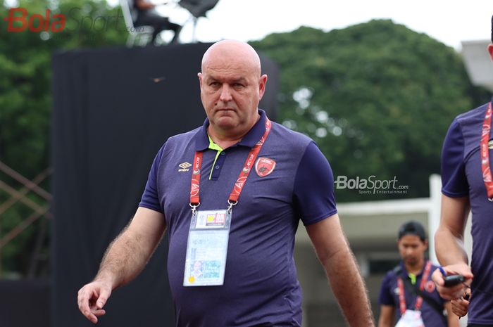
<path fill-rule="evenodd" d="M 201 56 L 210 44 L 56 53 L 52 163 L 54 327 L 92 326 L 77 309 L 104 250 L 137 209 L 154 155 L 168 136 L 204 122 Z M 276 65 L 261 108 L 274 119 Z M 166 239 L 146 269 L 113 292 L 98 326 L 172 326 Z"/>

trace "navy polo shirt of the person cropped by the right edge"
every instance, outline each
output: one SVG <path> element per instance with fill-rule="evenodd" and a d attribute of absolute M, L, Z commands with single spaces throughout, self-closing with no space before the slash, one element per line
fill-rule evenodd
<path fill-rule="evenodd" d="M 449 127 L 442 149 L 442 193 L 451 198 L 468 196 L 473 222 L 473 256 L 468 322 L 493 324 L 493 203 L 487 200 L 482 179 L 480 137 L 487 105 L 458 115 Z M 493 131 L 489 134 L 489 159 L 493 161 Z"/>

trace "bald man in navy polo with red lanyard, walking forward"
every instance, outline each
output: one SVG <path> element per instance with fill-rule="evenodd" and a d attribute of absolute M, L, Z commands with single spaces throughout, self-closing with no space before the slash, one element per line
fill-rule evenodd
<path fill-rule="evenodd" d="M 159 150 L 135 217 L 79 291 L 82 314 L 96 323 L 168 229 L 175 326 L 301 326 L 293 259 L 301 219 L 349 325 L 374 326 L 330 165 L 311 139 L 258 109 L 267 75 L 256 51 L 219 41 L 198 77 L 207 119 Z"/>

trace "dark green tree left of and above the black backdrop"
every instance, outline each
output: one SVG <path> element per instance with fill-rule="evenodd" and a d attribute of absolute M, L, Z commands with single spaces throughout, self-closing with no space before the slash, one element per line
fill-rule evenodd
<path fill-rule="evenodd" d="M 51 55 L 81 47 L 117 46 L 125 44 L 127 30 L 120 7 L 108 6 L 106 1 L 63 0 L 63 1 L 19 1 L 18 8 L 24 8 L 28 21 L 30 15 L 51 13 L 48 31 L 8 32 L 8 22 L 0 20 L 0 160 L 13 167 L 28 179 L 49 167 L 49 134 L 51 119 Z M 9 15 L 6 5 L 0 6 L 0 18 Z M 59 18 L 65 17 L 61 32 L 51 27 Z M 20 17 L 22 13 L 15 13 Z M 34 27 L 39 26 L 39 20 Z M 17 22 L 14 27 L 22 27 Z M 57 26 L 55 26 L 57 27 Z M 16 189 L 21 185 L 0 172 L 0 181 Z M 41 185 L 49 190 L 49 180 Z M 0 189 L 0 204 L 9 195 Z M 29 193 L 30 200 L 46 205 L 46 200 Z M 16 203 L 0 214 L 0 239 L 15 226 L 29 217 L 32 210 L 23 203 Z M 49 241 L 45 231 L 46 221 L 39 219 L 13 241 L 0 248 L 3 271 L 16 271 L 26 275 L 32 261 L 37 242 L 44 247 L 37 255 L 49 255 Z M 39 241 L 42 240 L 42 241 Z M 49 265 L 36 274 L 47 274 Z M 1 275 L 0 275 L 1 276 Z"/>

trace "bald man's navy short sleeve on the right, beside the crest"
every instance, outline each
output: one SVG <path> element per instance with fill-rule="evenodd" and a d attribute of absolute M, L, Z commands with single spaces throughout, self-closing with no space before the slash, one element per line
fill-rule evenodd
<path fill-rule="evenodd" d="M 294 179 L 294 207 L 304 225 L 315 224 L 337 213 L 334 196 L 334 176 L 329 162 L 311 142 Z"/>

